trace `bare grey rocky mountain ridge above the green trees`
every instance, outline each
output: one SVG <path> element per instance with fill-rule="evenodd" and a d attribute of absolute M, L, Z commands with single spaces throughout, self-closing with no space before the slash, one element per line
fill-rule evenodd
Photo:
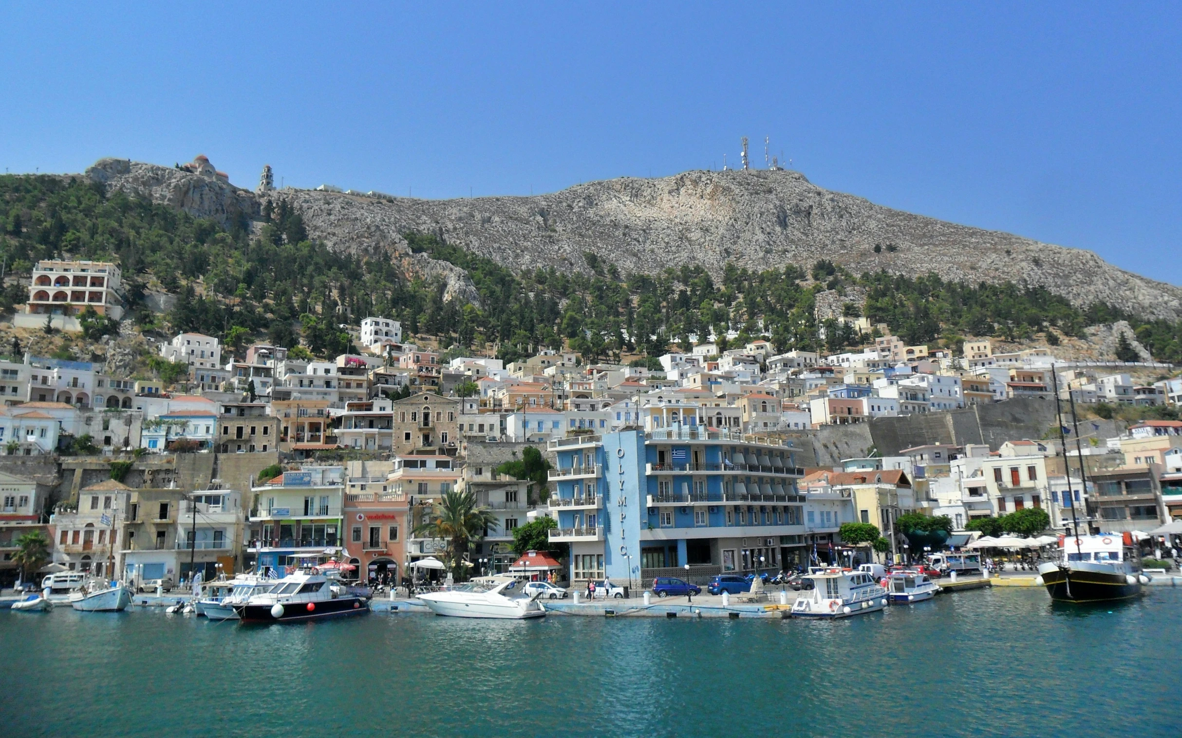
<path fill-rule="evenodd" d="M 103 159 L 87 175 L 220 220 L 253 216 L 262 198 L 286 201 L 329 248 L 385 254 L 415 273 L 439 274 L 453 298 L 473 295 L 462 272 L 409 254 L 400 234 L 434 233 L 514 269 L 586 272 L 585 252 L 625 274 L 680 264 L 721 274 L 728 261 L 766 269 L 829 259 L 855 273 L 935 272 L 953 281 L 1040 285 L 1078 306 L 1103 301 L 1148 318 L 1182 316 L 1182 288 L 1113 267 L 1091 252 L 892 210 L 786 170 L 688 171 L 531 197 L 441 201 L 293 188 L 249 192 L 123 159 Z"/>

